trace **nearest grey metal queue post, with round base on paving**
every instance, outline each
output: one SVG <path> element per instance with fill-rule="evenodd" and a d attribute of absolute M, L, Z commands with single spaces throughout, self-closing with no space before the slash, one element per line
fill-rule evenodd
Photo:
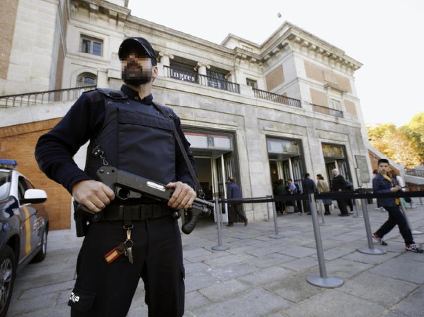
<path fill-rule="evenodd" d="M 309 198 L 311 201 L 311 215 L 312 215 L 312 225 L 314 228 L 315 235 L 315 245 L 317 248 L 318 256 L 318 265 L 319 265 L 319 275 L 311 274 L 306 277 L 306 280 L 315 286 L 325 287 L 325 288 L 335 288 L 343 285 L 343 279 L 336 276 L 327 276 L 327 271 L 325 269 L 325 260 L 324 260 L 324 249 L 322 247 L 321 232 L 318 225 L 318 215 L 316 211 L 316 205 L 313 204 L 315 201 L 315 195 L 310 194 Z"/>

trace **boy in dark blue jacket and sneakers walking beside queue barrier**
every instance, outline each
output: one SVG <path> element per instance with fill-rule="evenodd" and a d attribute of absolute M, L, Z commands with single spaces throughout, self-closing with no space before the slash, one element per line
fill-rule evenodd
<path fill-rule="evenodd" d="M 395 185 L 395 180 L 388 174 L 389 161 L 387 159 L 378 160 L 379 173 L 372 180 L 372 188 L 374 193 L 397 193 L 401 190 L 399 185 Z M 383 240 L 383 237 L 389 233 L 396 225 L 399 227 L 399 231 L 405 242 L 405 249 L 407 251 L 423 253 L 423 249 L 414 242 L 412 237 L 411 229 L 399 209 L 400 201 L 399 198 L 377 198 L 380 201 L 380 205 L 384 207 L 389 213 L 389 219 L 372 234 L 372 237 L 382 245 L 387 245 Z"/>

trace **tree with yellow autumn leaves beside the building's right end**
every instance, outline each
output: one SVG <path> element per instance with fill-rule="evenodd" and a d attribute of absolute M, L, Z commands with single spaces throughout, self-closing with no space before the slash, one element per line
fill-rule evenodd
<path fill-rule="evenodd" d="M 393 123 L 367 127 L 371 145 L 397 164 L 414 168 L 424 161 L 424 112 L 397 128 Z"/>

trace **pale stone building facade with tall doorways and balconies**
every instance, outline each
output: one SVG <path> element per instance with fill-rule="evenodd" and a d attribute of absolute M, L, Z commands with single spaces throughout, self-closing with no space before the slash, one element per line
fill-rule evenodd
<path fill-rule="evenodd" d="M 92 84 L 119 88 L 118 47 L 125 37 L 141 36 L 160 58 L 154 100 L 180 116 L 209 198 L 226 196 L 228 176 L 235 177 L 244 197 L 260 197 L 272 194 L 280 178 L 301 186 L 304 173 L 329 180 L 335 167 L 355 186 L 357 174 L 370 186 L 354 79 L 360 62 L 289 22 L 262 44 L 232 34 L 215 44 L 132 16 L 127 2 L 19 0 L 8 31 L 13 32 L 10 52 L 1 55 L 0 94 Z M 0 129 L 60 118 L 71 104 L 6 109 L 9 116 Z M 0 146 L 8 137 L 0 136 Z M 75 156 L 82 168 L 84 156 L 84 149 Z M 35 161 L 27 164 L 30 170 Z M 70 219 L 69 206 L 63 208 L 53 212 Z M 266 216 L 265 204 L 244 208 L 249 220 Z"/>

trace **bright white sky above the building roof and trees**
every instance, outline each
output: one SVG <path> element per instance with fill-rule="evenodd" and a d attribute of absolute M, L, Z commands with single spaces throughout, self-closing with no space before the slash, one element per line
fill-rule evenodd
<path fill-rule="evenodd" d="M 228 33 L 261 44 L 287 20 L 364 64 L 355 77 L 366 123 L 401 126 L 424 111 L 424 0 L 129 0 L 128 7 L 217 44 Z"/>

